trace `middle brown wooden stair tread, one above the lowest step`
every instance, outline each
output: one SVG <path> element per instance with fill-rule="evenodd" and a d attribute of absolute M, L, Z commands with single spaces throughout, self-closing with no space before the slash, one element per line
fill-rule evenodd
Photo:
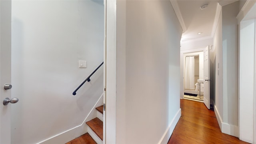
<path fill-rule="evenodd" d="M 86 124 L 103 140 L 103 122 L 99 118 L 94 118 L 86 122 Z"/>

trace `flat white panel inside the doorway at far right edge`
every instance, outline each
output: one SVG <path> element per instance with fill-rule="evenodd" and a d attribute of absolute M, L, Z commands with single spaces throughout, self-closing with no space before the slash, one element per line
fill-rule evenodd
<path fill-rule="evenodd" d="M 240 136 L 253 142 L 254 120 L 254 29 L 255 20 L 240 23 Z"/>

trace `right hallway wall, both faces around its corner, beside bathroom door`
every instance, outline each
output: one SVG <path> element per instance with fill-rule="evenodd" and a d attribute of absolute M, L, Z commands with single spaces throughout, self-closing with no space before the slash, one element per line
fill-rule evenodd
<path fill-rule="evenodd" d="M 239 2 L 222 7 L 214 35 L 215 114 L 225 134 L 238 136 L 238 23 Z"/>

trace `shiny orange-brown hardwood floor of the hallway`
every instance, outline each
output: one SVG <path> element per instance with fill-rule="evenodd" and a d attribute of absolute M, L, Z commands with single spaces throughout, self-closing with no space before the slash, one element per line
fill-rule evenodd
<path fill-rule="evenodd" d="M 204 103 L 180 100 L 181 117 L 168 144 L 248 144 L 220 131 L 213 110 Z"/>

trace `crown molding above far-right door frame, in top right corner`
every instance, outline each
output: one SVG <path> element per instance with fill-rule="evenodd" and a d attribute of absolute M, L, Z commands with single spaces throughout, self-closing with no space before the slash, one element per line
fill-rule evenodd
<path fill-rule="evenodd" d="M 244 6 L 241 8 L 240 12 L 236 16 L 238 24 L 243 20 L 244 16 L 249 12 L 252 6 L 256 3 L 256 0 L 246 0 Z"/>

